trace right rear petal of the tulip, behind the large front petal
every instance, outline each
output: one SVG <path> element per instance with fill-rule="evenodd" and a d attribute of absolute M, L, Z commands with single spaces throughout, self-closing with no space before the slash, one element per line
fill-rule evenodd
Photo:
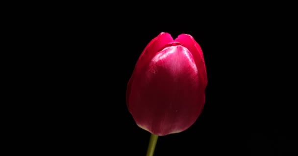
<path fill-rule="evenodd" d="M 194 56 L 195 62 L 199 70 L 200 78 L 203 80 L 203 88 L 205 89 L 207 85 L 207 74 L 201 47 L 191 35 L 187 34 L 179 35 L 178 38 L 176 38 L 174 41 L 180 42 Z"/>

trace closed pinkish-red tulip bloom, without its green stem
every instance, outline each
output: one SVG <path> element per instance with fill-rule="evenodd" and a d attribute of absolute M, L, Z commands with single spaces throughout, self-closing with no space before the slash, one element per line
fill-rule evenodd
<path fill-rule="evenodd" d="M 151 134 L 179 133 L 202 112 L 206 85 L 203 53 L 195 39 L 161 33 L 136 63 L 127 84 L 127 107 L 136 124 Z"/>

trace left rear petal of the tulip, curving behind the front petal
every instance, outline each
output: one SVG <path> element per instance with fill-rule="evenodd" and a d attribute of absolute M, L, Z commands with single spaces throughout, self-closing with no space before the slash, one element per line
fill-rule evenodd
<path fill-rule="evenodd" d="M 152 39 L 146 48 L 143 50 L 141 56 L 139 57 L 137 63 L 136 63 L 136 68 L 133 71 L 133 74 L 131 78 L 128 81 L 127 88 L 126 88 L 126 105 L 129 109 L 129 95 L 130 95 L 130 87 L 131 87 L 131 82 L 134 78 L 134 73 L 135 70 L 142 70 L 143 66 L 149 62 L 153 56 L 159 51 L 162 50 L 165 45 L 167 45 L 170 42 L 173 42 L 173 38 L 169 33 L 160 33 L 156 38 Z"/>

